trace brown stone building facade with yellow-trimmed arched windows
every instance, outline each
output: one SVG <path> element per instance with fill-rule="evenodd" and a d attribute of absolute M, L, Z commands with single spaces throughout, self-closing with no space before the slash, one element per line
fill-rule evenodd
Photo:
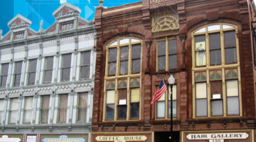
<path fill-rule="evenodd" d="M 174 142 L 253 142 L 251 12 L 247 0 L 143 0 L 97 7 L 91 142 L 169 141 L 168 92 L 150 103 L 162 77 L 167 82 L 170 74 Z"/>

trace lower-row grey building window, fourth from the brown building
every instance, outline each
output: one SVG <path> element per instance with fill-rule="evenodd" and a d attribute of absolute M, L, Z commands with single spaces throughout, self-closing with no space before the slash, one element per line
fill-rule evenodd
<path fill-rule="evenodd" d="M 25 97 L 24 120 L 23 122 L 31 123 L 33 97 Z"/>

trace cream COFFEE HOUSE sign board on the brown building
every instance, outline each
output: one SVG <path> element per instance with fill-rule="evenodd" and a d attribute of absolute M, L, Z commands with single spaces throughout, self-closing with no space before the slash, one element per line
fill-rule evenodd
<path fill-rule="evenodd" d="M 108 141 L 114 141 L 114 142 L 142 142 L 146 141 L 148 139 L 147 136 L 96 136 L 97 142 L 108 142 Z"/>

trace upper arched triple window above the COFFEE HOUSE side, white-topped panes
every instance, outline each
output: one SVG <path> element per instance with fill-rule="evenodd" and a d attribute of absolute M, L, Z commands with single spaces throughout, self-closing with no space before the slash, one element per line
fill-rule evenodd
<path fill-rule="evenodd" d="M 129 75 L 141 72 L 142 40 L 119 38 L 107 46 L 106 75 Z"/>

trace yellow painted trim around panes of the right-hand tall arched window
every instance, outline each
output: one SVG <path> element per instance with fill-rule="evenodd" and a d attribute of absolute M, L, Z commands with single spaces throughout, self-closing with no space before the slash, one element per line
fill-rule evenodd
<path fill-rule="evenodd" d="M 208 32 L 208 26 L 210 25 L 220 25 L 220 30 L 210 31 Z M 233 28 L 229 29 L 222 29 L 222 25 L 229 25 L 233 26 Z M 206 28 L 205 32 L 200 33 L 194 33 L 198 31 L 199 29 Z M 221 118 L 221 117 L 237 117 L 237 116 L 227 116 L 227 95 L 226 95 L 226 79 L 225 79 L 225 69 L 229 68 L 237 68 L 238 70 L 238 84 L 239 84 L 239 116 L 242 116 L 242 103 L 241 103 L 241 73 L 240 73 L 240 59 L 239 59 L 239 41 L 236 37 L 236 57 L 237 57 L 237 63 L 236 64 L 226 64 L 225 62 L 225 48 L 224 48 L 224 33 L 226 31 L 235 31 L 236 35 L 238 34 L 238 27 L 237 25 L 230 24 L 230 23 L 211 23 L 204 26 L 201 26 L 191 33 L 191 39 L 192 39 L 192 96 L 193 96 L 193 114 L 192 118 Z M 209 61 L 209 33 L 220 33 L 221 36 L 221 65 L 217 66 L 210 66 Z M 205 35 L 205 44 L 206 44 L 206 67 L 195 67 L 195 35 Z M 222 72 L 222 96 L 223 96 L 223 116 L 211 116 L 211 93 L 210 93 L 210 81 L 209 81 L 209 70 L 221 70 Z M 206 72 L 207 76 L 207 117 L 196 117 L 196 110 L 195 110 L 195 72 L 202 71 Z M 203 82 L 203 81 L 202 81 Z M 205 81 L 204 81 L 205 82 Z"/>

